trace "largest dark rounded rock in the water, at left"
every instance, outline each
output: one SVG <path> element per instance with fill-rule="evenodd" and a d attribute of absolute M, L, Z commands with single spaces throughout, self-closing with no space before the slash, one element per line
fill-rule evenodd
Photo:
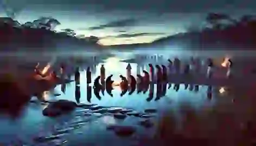
<path fill-rule="evenodd" d="M 76 103 L 67 100 L 59 100 L 53 103 L 50 103 L 47 108 L 43 110 L 44 116 L 55 117 L 67 112 L 73 111 L 76 108 Z"/>

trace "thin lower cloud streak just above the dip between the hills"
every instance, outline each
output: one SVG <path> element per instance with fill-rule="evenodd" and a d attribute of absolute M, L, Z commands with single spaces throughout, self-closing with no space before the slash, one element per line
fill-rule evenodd
<path fill-rule="evenodd" d="M 141 32 L 136 34 L 120 34 L 116 36 L 105 36 L 103 38 L 128 38 L 128 37 L 157 36 L 157 35 L 166 35 L 166 34 L 161 32 Z"/>

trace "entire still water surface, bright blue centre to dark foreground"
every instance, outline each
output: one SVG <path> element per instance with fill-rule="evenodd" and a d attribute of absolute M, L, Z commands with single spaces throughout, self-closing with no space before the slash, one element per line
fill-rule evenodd
<path fill-rule="evenodd" d="M 126 62 L 131 62 L 132 75 L 136 76 L 143 69 L 148 70 L 144 64 L 166 63 L 167 59 L 134 59 L 131 56 L 103 57 L 97 61 L 92 61 L 92 58 L 83 61 L 79 57 L 76 63 L 69 62 L 69 65 L 76 64 L 80 67 L 79 87 L 74 82 L 64 87 L 57 85 L 54 91 L 42 93 L 41 98 L 46 101 L 68 99 L 102 107 L 93 110 L 77 108 L 71 114 L 50 118 L 42 115 L 47 104 L 42 104 L 37 97 L 33 97 L 31 101 L 38 102 L 25 105 L 18 117 L 1 115 L 0 142 L 3 145 L 161 145 L 168 139 L 177 142 L 177 145 L 190 140 L 200 141 L 203 145 L 247 145 L 247 142 L 253 140 L 254 135 L 251 133 L 254 132 L 256 113 L 256 86 L 253 84 L 214 86 L 211 94 L 206 85 L 199 84 L 197 88 L 196 84 L 189 84 L 185 89 L 185 85 L 180 84 L 180 89 L 176 91 L 174 84 L 171 84 L 170 89 L 167 85 L 166 94 L 157 100 L 156 84 L 153 86 L 153 98 L 149 98 L 152 87 L 145 92 L 137 93 L 136 90 L 132 95 L 127 92 L 122 97 L 119 87 L 112 91 L 113 97 L 106 91 L 99 92 L 99 95 L 94 94 L 94 89 L 86 84 L 87 67 L 92 68 L 92 81 L 100 75 L 102 63 L 105 64 L 106 76 L 113 74 L 112 79 L 120 81 L 119 75 L 126 75 Z M 215 62 L 220 63 L 223 57 L 225 56 L 216 56 Z M 67 62 L 74 58 L 77 57 L 63 57 L 62 61 Z M 130 60 L 121 61 L 124 59 Z M 244 63 L 237 60 L 236 64 Z M 57 64 L 60 61 L 54 62 Z M 237 68 L 241 69 L 238 65 Z M 78 90 L 80 96 L 75 95 Z M 56 96 L 57 94 L 60 95 Z M 124 112 L 113 114 L 110 112 L 113 108 L 122 108 L 119 111 Z M 132 114 L 126 114 L 126 111 Z M 120 117 L 120 114 L 126 116 Z M 130 132 L 126 135 L 120 134 L 113 130 L 117 125 L 126 126 Z"/>

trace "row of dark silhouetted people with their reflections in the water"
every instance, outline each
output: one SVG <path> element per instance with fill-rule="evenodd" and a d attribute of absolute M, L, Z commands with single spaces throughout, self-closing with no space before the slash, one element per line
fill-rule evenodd
<path fill-rule="evenodd" d="M 152 64 L 149 64 L 150 72 L 143 70 L 143 76 L 137 75 L 137 79 L 131 75 L 131 65 L 128 64 L 126 70 L 127 70 L 127 77 L 120 75 L 121 82 L 119 84 L 121 88 L 120 96 L 124 96 L 127 92 L 129 95 L 132 95 L 135 90 L 137 89 L 137 94 L 143 93 L 146 94 L 147 91 L 149 91 L 149 97 L 146 99 L 146 101 L 151 101 L 154 97 L 154 85 L 157 86 L 156 91 L 156 99 L 155 101 L 159 100 L 161 97 L 166 95 L 167 89 L 170 89 L 172 87 L 172 84 L 168 82 L 168 74 L 180 74 L 181 73 L 181 66 L 180 66 L 180 60 L 175 58 L 172 62 L 170 59 L 168 59 L 169 65 L 168 68 L 165 67 L 165 65 L 155 65 L 156 67 L 156 74 L 155 74 L 155 68 Z M 229 66 L 231 67 L 231 61 L 229 60 Z M 213 61 L 212 59 L 208 59 L 208 72 L 210 72 L 211 68 L 213 67 Z M 196 68 L 196 65 L 194 66 Z M 61 67 L 63 70 L 63 67 Z M 185 66 L 183 73 L 189 74 L 189 70 L 191 69 L 190 65 Z M 208 73 L 207 72 L 207 73 Z M 105 67 L 104 65 L 101 65 L 100 68 L 100 76 L 97 76 L 94 79 L 93 86 L 92 83 L 92 72 L 90 71 L 90 68 L 88 67 L 86 70 L 86 82 L 87 82 L 87 101 L 91 102 L 92 98 L 92 89 L 94 92 L 95 97 L 97 97 L 99 100 L 101 99 L 100 92 L 104 96 L 105 90 L 108 95 L 113 97 L 112 90 L 114 81 L 111 79 L 113 75 L 108 76 L 105 79 Z M 155 79 L 156 78 L 156 79 Z M 80 71 L 79 67 L 75 69 L 74 73 L 74 81 L 75 81 L 75 99 L 76 102 L 80 102 Z M 193 85 L 193 84 L 184 84 L 185 90 L 189 89 L 190 91 L 199 91 L 199 85 Z M 174 84 L 173 89 L 175 91 L 178 91 L 180 89 L 180 84 Z M 65 93 L 66 90 L 66 84 L 61 85 L 62 92 Z M 209 86 L 207 90 L 207 97 L 212 98 L 212 87 Z"/>

